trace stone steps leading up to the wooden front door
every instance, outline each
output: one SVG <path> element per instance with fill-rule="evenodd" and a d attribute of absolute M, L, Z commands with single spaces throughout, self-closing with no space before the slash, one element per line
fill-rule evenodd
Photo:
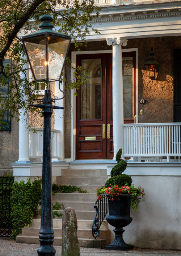
<path fill-rule="evenodd" d="M 64 207 L 72 207 L 77 216 L 77 235 L 80 247 L 105 248 L 110 244 L 108 223 L 103 221 L 97 239 L 92 236 L 92 224 L 95 215 L 94 203 L 97 200 L 95 188 L 104 185 L 107 180 L 107 169 L 63 169 L 62 176 L 57 177 L 58 185 L 76 185 L 87 189 L 89 193 L 55 193 L 53 204 L 58 202 Z M 58 211 L 63 212 L 63 211 Z M 40 216 L 33 219 L 30 227 L 22 228 L 22 234 L 17 236 L 17 243 L 39 244 Z M 62 245 L 62 219 L 53 219 L 54 245 Z"/>

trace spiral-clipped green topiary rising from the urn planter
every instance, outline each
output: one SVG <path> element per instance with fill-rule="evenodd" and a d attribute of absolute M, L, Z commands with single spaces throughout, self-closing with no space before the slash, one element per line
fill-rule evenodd
<path fill-rule="evenodd" d="M 121 159 L 122 149 L 116 154 L 116 161 L 118 162 L 112 169 L 111 169 L 111 177 L 106 181 L 105 187 L 108 188 L 111 185 L 118 185 L 119 187 L 124 186 L 126 183 L 128 186 L 131 186 L 132 179 L 131 176 L 122 174 L 127 167 L 127 163 L 125 160 Z"/>

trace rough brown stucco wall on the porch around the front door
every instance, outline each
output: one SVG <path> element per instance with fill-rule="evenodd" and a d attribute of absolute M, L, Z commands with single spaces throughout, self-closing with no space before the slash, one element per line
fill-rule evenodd
<path fill-rule="evenodd" d="M 153 47 L 155 56 L 160 64 L 159 79 L 153 81 L 146 77 L 146 71 L 144 70 L 144 62 L 151 51 L 151 47 Z M 129 39 L 127 46 L 122 48 L 138 48 L 138 123 L 173 122 L 173 49 L 181 48 L 181 36 Z M 108 46 L 106 40 L 104 40 L 88 42 L 87 47 L 82 47 L 81 51 L 111 49 L 112 47 Z M 70 57 L 71 51 L 76 51 L 73 44 L 69 52 Z M 70 93 L 68 93 L 67 98 L 65 112 L 65 157 L 70 158 Z M 144 105 L 139 104 L 139 100 L 142 98 L 147 101 Z M 142 115 L 140 115 L 140 109 L 143 109 Z"/>

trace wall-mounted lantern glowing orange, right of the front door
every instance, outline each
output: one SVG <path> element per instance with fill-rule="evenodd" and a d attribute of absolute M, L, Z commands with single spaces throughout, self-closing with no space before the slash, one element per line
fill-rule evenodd
<path fill-rule="evenodd" d="M 160 64 L 157 61 L 157 58 L 155 57 L 155 53 L 153 52 L 153 47 L 151 48 L 150 55 L 147 57 L 144 67 L 147 72 L 147 76 L 153 79 L 158 79 L 158 72 Z"/>

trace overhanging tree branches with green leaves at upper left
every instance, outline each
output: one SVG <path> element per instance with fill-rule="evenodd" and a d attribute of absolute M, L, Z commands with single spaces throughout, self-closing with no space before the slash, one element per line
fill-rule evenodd
<path fill-rule="evenodd" d="M 56 9 L 57 5 L 62 6 L 60 10 Z M 38 122 L 37 113 L 41 115 L 41 111 L 30 107 L 30 104 L 36 103 L 36 100 L 30 99 L 33 84 L 32 80 L 28 79 L 28 70 L 24 68 L 27 60 L 22 57 L 25 52 L 17 35 L 23 36 L 28 31 L 39 30 L 39 18 L 49 14 L 53 17 L 52 23 L 56 29 L 70 35 L 75 47 L 80 50 L 81 45 L 86 45 L 85 37 L 91 31 L 99 33 L 92 20 L 95 16 L 98 17 L 101 8 L 95 5 L 94 0 L 1 0 L 0 10 L 0 89 L 6 87 L 8 78 L 11 77 L 9 96 L 3 98 L 0 94 L 0 120 L 4 119 L 4 114 L 9 108 L 10 118 L 18 121 L 21 115 L 19 109 L 24 108 L 25 114 L 30 113 L 31 119 Z M 4 59 L 10 59 L 10 64 L 3 66 Z M 20 71 L 24 73 L 24 77 L 21 76 Z M 75 80 L 67 84 L 67 88 L 75 90 L 80 88 L 81 75 L 85 74 L 82 72 L 80 75 L 79 71 L 79 68 L 74 69 Z M 35 99 L 39 97 L 38 93 L 38 90 L 33 93 Z M 5 125 L 3 122 L 1 124 Z"/>

